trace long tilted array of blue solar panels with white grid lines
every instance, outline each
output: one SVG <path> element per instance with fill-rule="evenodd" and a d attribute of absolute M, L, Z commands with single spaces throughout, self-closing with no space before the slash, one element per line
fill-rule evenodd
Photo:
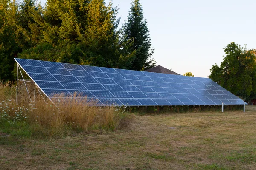
<path fill-rule="evenodd" d="M 96 105 L 243 105 L 244 101 L 209 78 L 74 65 L 30 59 L 16 62 L 49 97 L 65 94 Z M 79 100 L 78 100 L 79 101 Z"/>

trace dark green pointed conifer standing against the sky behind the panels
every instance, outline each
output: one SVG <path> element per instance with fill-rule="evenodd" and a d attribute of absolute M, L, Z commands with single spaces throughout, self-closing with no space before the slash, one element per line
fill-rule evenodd
<path fill-rule="evenodd" d="M 124 23 L 122 29 L 124 30 L 124 40 L 133 40 L 134 42 L 129 48 L 130 53 L 136 51 L 131 69 L 144 70 L 155 67 L 155 60 L 150 59 L 154 49 L 151 49 L 151 38 L 147 22 L 143 19 L 143 9 L 140 0 L 134 0 L 131 3 L 128 20 Z"/>

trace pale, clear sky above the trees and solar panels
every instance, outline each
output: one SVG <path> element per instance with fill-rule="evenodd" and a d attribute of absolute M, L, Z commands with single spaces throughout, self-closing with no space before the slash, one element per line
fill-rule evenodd
<path fill-rule="evenodd" d="M 42 4 L 46 0 L 41 0 Z M 109 0 L 106 0 L 108 3 Z M 207 77 L 220 65 L 224 47 L 236 42 L 256 48 L 256 0 L 140 0 L 157 65 L 179 74 Z M 113 0 L 121 23 L 131 0 Z"/>

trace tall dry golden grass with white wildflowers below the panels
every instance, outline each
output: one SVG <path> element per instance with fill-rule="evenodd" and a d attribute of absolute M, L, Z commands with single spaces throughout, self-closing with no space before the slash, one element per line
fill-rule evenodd
<path fill-rule="evenodd" d="M 22 86 L 21 86 L 22 87 Z M 92 107 L 93 102 L 87 99 L 73 99 L 54 96 L 54 103 L 36 95 L 30 102 L 24 89 L 19 86 L 18 104 L 15 98 L 15 87 L 10 84 L 0 84 L 0 122 L 6 125 L 23 122 L 28 124 L 31 136 L 53 137 L 70 135 L 74 132 L 91 130 L 115 130 L 125 117 L 123 111 L 115 107 Z M 60 99 L 59 97 L 62 97 Z"/>

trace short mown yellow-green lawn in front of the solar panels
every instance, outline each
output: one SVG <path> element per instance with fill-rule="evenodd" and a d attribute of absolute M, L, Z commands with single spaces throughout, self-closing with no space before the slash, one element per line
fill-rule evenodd
<path fill-rule="evenodd" d="M 246 113 L 133 114 L 120 130 L 58 139 L 0 137 L 0 169 L 256 169 L 256 107 Z"/>

